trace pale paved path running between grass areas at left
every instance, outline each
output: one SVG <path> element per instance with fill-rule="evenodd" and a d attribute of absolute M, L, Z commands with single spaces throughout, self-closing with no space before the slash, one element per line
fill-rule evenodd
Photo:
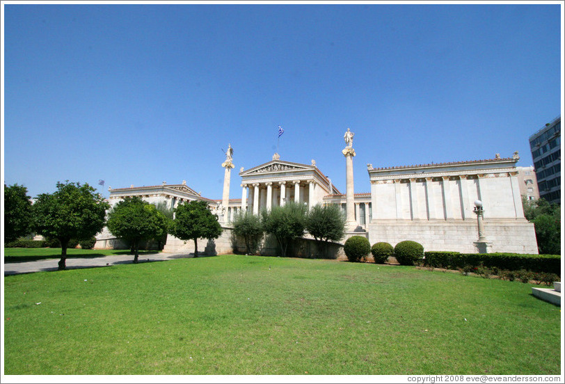
<path fill-rule="evenodd" d="M 139 262 L 164 262 L 172 259 L 183 259 L 193 257 L 192 253 L 150 253 L 139 255 Z M 111 266 L 117 264 L 132 264 L 134 255 L 111 255 L 104 257 L 79 258 L 67 257 L 67 269 L 95 268 L 99 266 Z M 31 273 L 43 271 L 57 271 L 59 259 L 45 259 L 35 262 L 4 263 L 4 276 L 17 275 L 18 273 Z"/>

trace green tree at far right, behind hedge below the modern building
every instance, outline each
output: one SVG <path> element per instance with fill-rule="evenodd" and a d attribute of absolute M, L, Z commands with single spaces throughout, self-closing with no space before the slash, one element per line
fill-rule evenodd
<path fill-rule="evenodd" d="M 547 255 L 561 253 L 561 207 L 544 198 L 526 200 L 522 197 L 524 216 L 534 223 L 538 252 Z"/>

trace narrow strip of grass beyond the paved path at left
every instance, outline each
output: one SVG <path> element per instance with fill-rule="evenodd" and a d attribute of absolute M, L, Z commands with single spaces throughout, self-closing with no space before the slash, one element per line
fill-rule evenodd
<path fill-rule="evenodd" d="M 157 253 L 157 250 L 140 250 L 140 255 Z M 133 255 L 129 250 L 67 249 L 68 258 L 89 258 L 109 255 Z M 61 248 L 4 248 L 5 263 L 33 262 L 35 260 L 61 259 Z"/>

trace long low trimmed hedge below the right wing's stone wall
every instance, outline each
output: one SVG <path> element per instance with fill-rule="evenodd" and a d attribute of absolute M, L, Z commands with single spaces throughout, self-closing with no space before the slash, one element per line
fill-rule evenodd
<path fill-rule="evenodd" d="M 560 255 L 525 255 L 521 253 L 458 253 L 458 252 L 424 252 L 424 266 L 457 269 L 463 266 L 480 266 L 489 268 L 532 272 L 556 273 L 561 276 Z"/>

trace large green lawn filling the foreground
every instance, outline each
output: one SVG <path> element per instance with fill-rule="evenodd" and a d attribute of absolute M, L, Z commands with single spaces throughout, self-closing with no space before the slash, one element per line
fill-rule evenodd
<path fill-rule="evenodd" d="M 5 374 L 560 369 L 559 307 L 520 282 L 242 255 L 4 281 Z"/>

